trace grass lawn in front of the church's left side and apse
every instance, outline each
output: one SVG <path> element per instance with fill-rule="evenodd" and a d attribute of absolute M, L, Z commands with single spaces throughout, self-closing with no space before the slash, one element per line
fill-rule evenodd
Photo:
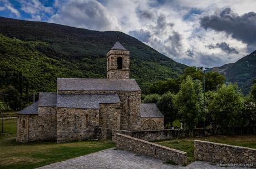
<path fill-rule="evenodd" d="M 36 168 L 115 147 L 111 141 L 17 143 L 16 119 L 4 119 L 4 131 L 8 134 L 0 135 L 0 168 L 6 169 Z"/>

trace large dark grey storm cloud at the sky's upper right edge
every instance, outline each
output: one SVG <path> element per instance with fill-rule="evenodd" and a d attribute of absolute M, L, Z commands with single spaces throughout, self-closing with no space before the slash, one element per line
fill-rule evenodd
<path fill-rule="evenodd" d="M 230 8 L 225 8 L 219 14 L 201 18 L 200 24 L 204 29 L 224 31 L 244 43 L 256 43 L 256 13 L 254 12 L 238 16 Z"/>

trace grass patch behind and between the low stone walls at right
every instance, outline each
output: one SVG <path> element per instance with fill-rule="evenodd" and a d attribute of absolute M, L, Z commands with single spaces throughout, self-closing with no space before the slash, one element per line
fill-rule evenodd
<path fill-rule="evenodd" d="M 156 144 L 160 144 L 166 147 L 175 148 L 177 150 L 185 151 L 188 155 L 188 162 L 194 161 L 194 140 L 203 140 L 211 142 L 219 142 L 222 144 L 243 146 L 256 148 L 256 135 L 245 136 L 209 136 L 209 137 L 192 137 L 185 139 L 164 140 L 156 141 Z"/>

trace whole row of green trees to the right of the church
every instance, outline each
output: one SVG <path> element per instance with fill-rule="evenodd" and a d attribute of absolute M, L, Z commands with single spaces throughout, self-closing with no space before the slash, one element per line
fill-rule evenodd
<path fill-rule="evenodd" d="M 166 92 L 161 94 L 164 90 L 159 84 L 163 81 L 157 82 L 157 88 L 162 90 L 144 96 L 144 103 L 157 104 L 165 116 L 166 125 L 172 126 L 173 121 L 179 119 L 193 130 L 196 125 L 202 126 L 205 122 L 206 126 L 211 125 L 216 131 L 216 127 L 243 127 L 256 124 L 256 83 L 252 86 L 250 94 L 244 96 L 240 93 L 237 84 L 225 84 L 224 76 L 218 73 L 206 73 L 206 82 L 209 83 L 205 86 L 204 109 L 203 78 L 200 77 L 203 72 L 198 68 L 189 68 L 189 71 L 185 72 L 186 74 L 179 79 L 169 80 L 181 81 L 179 87 L 170 85 L 168 90 L 166 85 L 163 85 Z M 210 83 L 212 79 L 219 81 Z M 157 83 L 152 86 L 156 86 Z"/>

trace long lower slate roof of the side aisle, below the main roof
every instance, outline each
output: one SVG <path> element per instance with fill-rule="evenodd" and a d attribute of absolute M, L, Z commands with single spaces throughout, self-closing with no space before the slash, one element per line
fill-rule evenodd
<path fill-rule="evenodd" d="M 117 94 L 58 94 L 57 107 L 100 109 L 100 103 L 120 103 Z"/>

